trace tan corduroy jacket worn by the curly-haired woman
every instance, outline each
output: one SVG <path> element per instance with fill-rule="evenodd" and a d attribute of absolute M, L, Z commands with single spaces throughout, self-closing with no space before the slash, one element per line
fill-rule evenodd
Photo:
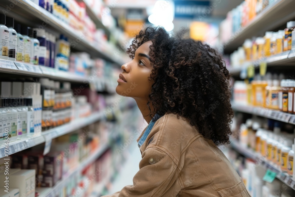
<path fill-rule="evenodd" d="M 105 197 L 251 197 L 214 142 L 172 113 L 155 121 L 140 151 L 133 185 Z"/>

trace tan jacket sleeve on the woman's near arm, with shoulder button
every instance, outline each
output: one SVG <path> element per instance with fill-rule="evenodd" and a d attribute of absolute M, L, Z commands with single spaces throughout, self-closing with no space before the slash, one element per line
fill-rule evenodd
<path fill-rule="evenodd" d="M 154 147 L 146 149 L 142 153 L 139 168 L 133 178 L 133 185 L 103 197 L 176 196 L 181 190 L 178 182 L 180 170 L 164 151 Z"/>

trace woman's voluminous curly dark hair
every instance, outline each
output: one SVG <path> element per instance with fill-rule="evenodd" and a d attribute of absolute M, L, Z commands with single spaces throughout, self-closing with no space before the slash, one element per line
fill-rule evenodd
<path fill-rule="evenodd" d="M 186 32 L 182 29 L 169 35 L 162 27 L 145 27 L 127 49 L 133 59 L 140 45 L 152 41 L 149 55 L 153 70 L 149 80 L 153 85 L 147 103 L 150 118 L 155 113 L 174 113 L 178 119 L 187 118 L 217 146 L 228 144 L 233 118 L 230 74 L 215 49 L 185 38 Z"/>

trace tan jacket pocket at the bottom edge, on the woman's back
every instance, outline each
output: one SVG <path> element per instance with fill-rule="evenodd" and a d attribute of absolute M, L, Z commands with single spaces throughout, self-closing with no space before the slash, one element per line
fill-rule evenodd
<path fill-rule="evenodd" d="M 230 188 L 217 191 L 217 193 L 221 197 L 251 197 L 242 180 Z"/>

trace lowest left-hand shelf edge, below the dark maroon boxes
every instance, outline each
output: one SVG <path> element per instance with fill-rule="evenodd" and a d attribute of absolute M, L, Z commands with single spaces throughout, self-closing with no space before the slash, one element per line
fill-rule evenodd
<path fill-rule="evenodd" d="M 40 197 L 54 197 L 58 196 L 60 190 L 69 182 L 75 175 L 80 174 L 81 171 L 89 164 L 93 163 L 99 156 L 101 156 L 109 148 L 108 144 L 101 145 L 98 150 L 96 150 L 87 159 L 83 159 L 83 162 L 79 164 L 77 168 L 71 170 L 63 176 L 63 178 L 58 181 L 52 188 L 37 188 L 40 191 Z"/>

